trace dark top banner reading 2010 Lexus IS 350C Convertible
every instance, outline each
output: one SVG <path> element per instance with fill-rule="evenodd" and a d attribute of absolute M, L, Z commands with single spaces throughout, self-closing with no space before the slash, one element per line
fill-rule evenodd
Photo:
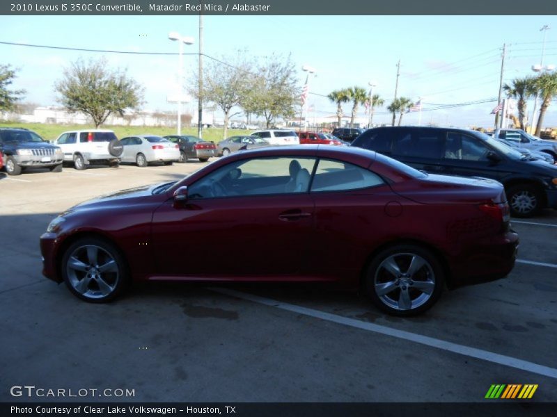
<path fill-rule="evenodd" d="M 1 15 L 557 15 L 548 0 L 8 0 Z M 480 29 L 480 28 L 478 28 Z"/>

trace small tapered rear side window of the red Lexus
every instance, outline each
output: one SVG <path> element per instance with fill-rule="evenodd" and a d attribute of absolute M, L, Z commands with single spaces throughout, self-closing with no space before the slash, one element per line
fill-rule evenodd
<path fill-rule="evenodd" d="M 379 175 L 362 167 L 340 161 L 320 159 L 311 192 L 345 191 L 375 187 L 383 184 Z"/>

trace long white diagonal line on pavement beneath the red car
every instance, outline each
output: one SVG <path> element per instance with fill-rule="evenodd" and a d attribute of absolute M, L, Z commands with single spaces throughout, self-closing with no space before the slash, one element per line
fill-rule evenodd
<path fill-rule="evenodd" d="M 526 370 L 527 372 L 557 379 L 556 368 L 550 368 L 549 366 L 543 366 L 538 363 L 533 363 L 529 361 L 524 361 L 522 359 L 508 357 L 506 355 L 489 352 L 487 350 L 477 349 L 476 347 L 459 345 L 457 343 L 447 342 L 441 339 L 432 338 L 429 336 L 423 336 L 421 334 L 405 332 L 404 330 L 392 329 L 391 327 L 376 325 L 370 322 L 363 322 L 361 320 L 354 320 L 353 318 L 337 316 L 336 314 L 308 309 L 306 307 L 301 307 L 294 304 L 288 304 L 285 302 L 272 300 L 270 298 L 259 297 L 258 295 L 242 293 L 240 291 L 234 291 L 228 288 L 208 288 L 208 289 L 216 293 L 229 295 L 230 297 L 237 297 L 242 300 L 248 300 L 251 302 L 256 302 L 258 304 L 264 304 L 266 306 L 275 307 L 276 309 L 292 311 L 292 313 L 303 314 L 304 316 L 319 318 L 321 320 L 327 320 L 330 322 L 338 323 L 339 325 L 345 325 L 345 326 L 355 327 L 356 329 L 367 330 L 368 332 L 384 334 L 385 336 L 400 338 L 406 341 L 420 343 L 421 345 L 435 347 L 437 349 L 446 350 L 448 352 L 462 354 L 467 357 L 472 357 L 483 361 L 489 361 L 492 363 L 509 366 L 510 368 L 516 368 L 519 370 Z"/>

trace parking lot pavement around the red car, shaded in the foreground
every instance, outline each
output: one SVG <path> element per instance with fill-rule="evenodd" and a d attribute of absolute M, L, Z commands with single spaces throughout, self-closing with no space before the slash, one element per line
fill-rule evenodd
<path fill-rule="evenodd" d="M 84 401 L 482 402 L 492 384 L 538 384 L 533 401 L 557 402 L 554 210 L 512 221 L 507 279 L 418 318 L 308 286 L 145 284 L 96 305 L 42 277 L 38 238 L 65 208 L 204 165 L 0 172 L 1 401 L 68 400 L 10 394 L 31 385 L 99 390 L 70 398 Z"/>

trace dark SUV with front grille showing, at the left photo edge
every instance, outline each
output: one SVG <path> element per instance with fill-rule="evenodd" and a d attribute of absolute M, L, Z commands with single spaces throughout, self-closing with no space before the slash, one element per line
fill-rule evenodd
<path fill-rule="evenodd" d="M 9 175 L 19 175 L 28 167 L 47 167 L 52 172 L 61 172 L 63 158 L 60 147 L 46 142 L 33 131 L 0 128 L 0 159 Z"/>

